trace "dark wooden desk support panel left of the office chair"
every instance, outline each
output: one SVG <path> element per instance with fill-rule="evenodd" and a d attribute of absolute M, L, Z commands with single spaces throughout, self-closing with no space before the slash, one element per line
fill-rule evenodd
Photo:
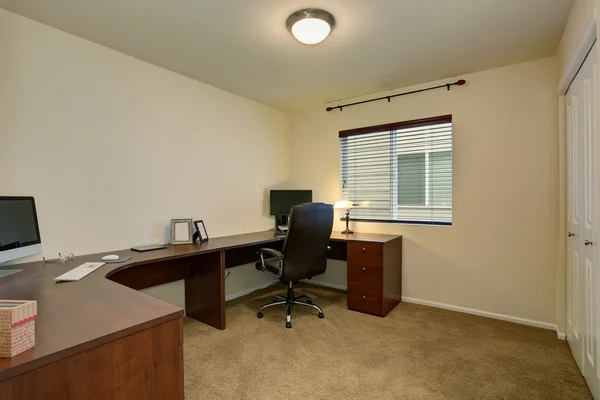
<path fill-rule="evenodd" d="M 225 251 L 191 261 L 185 280 L 185 312 L 190 318 L 225 329 Z"/>

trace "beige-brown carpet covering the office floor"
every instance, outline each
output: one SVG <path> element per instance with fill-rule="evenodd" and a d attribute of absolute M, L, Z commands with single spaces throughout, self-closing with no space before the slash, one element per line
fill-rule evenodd
<path fill-rule="evenodd" d="M 184 324 L 186 399 L 591 399 L 551 331 L 402 303 L 386 318 L 343 292 L 302 286 L 325 319 L 256 309 L 283 286 L 227 304 L 227 329 Z"/>

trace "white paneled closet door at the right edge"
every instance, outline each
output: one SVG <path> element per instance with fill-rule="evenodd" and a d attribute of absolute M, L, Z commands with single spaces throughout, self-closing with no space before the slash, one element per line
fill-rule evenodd
<path fill-rule="evenodd" d="M 600 399 L 598 318 L 596 47 L 567 93 L 567 341 L 596 399 Z"/>

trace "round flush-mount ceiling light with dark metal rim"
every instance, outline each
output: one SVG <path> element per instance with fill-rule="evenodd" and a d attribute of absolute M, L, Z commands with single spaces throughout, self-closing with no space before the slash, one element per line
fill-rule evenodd
<path fill-rule="evenodd" d="M 335 28 L 335 18 L 325 10 L 305 8 L 290 15 L 286 26 L 299 42 L 317 44 Z"/>

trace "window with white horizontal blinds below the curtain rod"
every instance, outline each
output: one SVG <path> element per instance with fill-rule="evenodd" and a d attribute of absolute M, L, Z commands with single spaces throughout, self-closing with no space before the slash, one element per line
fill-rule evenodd
<path fill-rule="evenodd" d="M 452 116 L 340 132 L 352 219 L 452 225 Z"/>

